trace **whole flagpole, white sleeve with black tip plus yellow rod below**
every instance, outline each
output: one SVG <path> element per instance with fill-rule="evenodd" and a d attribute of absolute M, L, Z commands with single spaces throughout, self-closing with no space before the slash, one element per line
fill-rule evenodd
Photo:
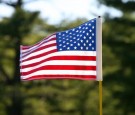
<path fill-rule="evenodd" d="M 96 51 L 97 51 L 97 81 L 99 81 L 99 115 L 102 110 L 102 19 L 98 16 L 96 21 Z"/>

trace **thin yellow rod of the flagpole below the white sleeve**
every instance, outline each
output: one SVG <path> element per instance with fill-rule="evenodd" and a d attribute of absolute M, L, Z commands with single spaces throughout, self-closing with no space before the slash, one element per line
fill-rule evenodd
<path fill-rule="evenodd" d="M 99 81 L 99 115 L 103 114 L 102 110 L 102 81 Z"/>

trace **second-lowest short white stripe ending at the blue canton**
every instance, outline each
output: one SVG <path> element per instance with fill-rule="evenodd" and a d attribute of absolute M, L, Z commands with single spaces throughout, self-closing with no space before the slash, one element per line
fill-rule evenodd
<path fill-rule="evenodd" d="M 39 49 L 40 47 L 43 47 L 43 46 L 46 46 L 46 45 L 50 45 L 50 44 L 54 44 L 56 43 L 56 40 L 52 40 L 52 41 L 49 41 L 49 42 L 46 42 L 46 43 L 43 43 L 41 46 L 35 46 L 35 47 L 31 47 L 29 49 L 22 49 L 22 53 L 25 54 L 25 53 L 29 53 L 30 51 L 34 51 L 36 49 Z"/>

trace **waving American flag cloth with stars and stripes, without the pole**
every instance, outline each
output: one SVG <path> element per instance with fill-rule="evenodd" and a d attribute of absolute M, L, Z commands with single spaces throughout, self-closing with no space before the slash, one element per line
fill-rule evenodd
<path fill-rule="evenodd" d="M 21 80 L 96 80 L 96 19 L 20 46 Z"/>

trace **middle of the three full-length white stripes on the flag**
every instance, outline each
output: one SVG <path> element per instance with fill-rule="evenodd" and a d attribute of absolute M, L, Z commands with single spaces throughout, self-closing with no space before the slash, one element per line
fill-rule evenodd
<path fill-rule="evenodd" d="M 33 69 L 36 69 L 42 66 L 47 66 L 47 65 L 96 66 L 96 61 L 52 60 L 52 61 L 47 61 L 47 62 L 29 67 L 29 68 L 24 68 L 24 69 L 21 68 L 21 72 L 28 72 Z"/>

